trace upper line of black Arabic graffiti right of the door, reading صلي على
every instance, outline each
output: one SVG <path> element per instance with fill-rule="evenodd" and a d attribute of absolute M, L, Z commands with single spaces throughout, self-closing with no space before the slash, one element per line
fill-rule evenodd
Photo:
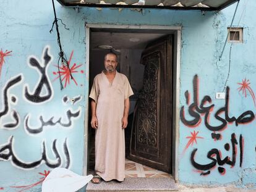
<path fill-rule="evenodd" d="M 229 87 L 226 88 L 226 101 L 225 101 L 225 106 L 221 107 L 220 109 L 218 109 L 218 111 L 216 111 L 214 117 L 215 119 L 219 120 L 221 122 L 220 125 L 218 126 L 213 126 L 210 125 L 208 122 L 208 119 L 210 119 L 210 113 L 213 110 L 213 107 L 215 106 L 215 104 L 211 104 L 210 106 L 205 107 L 205 104 L 211 103 L 211 98 L 210 96 L 204 96 L 200 106 L 198 106 L 198 77 L 197 75 L 194 76 L 194 80 L 193 80 L 193 88 L 194 88 L 194 102 L 192 102 L 192 104 L 190 104 L 189 106 L 189 115 L 191 115 L 192 117 L 194 117 L 194 119 L 192 120 L 187 120 L 185 117 L 185 112 L 184 112 L 184 106 L 181 107 L 181 111 L 180 111 L 180 117 L 181 117 L 181 121 L 182 123 L 184 123 L 184 125 L 188 126 L 188 127 L 196 127 L 200 122 L 201 122 L 201 115 L 205 114 L 205 119 L 204 119 L 204 123 L 205 126 L 211 130 L 211 131 L 220 131 L 223 130 L 224 128 L 226 128 L 227 122 L 231 123 L 231 122 L 236 122 L 236 126 L 238 126 L 239 124 L 245 124 L 245 123 L 249 123 L 252 122 L 252 120 L 255 119 L 255 115 L 254 112 L 252 111 L 245 111 L 243 112 L 241 115 L 239 115 L 239 117 L 229 117 Z M 186 97 L 186 103 L 189 104 L 189 91 L 186 91 L 185 93 L 185 97 Z M 222 117 L 220 117 L 220 114 L 224 112 L 224 116 L 225 118 L 223 119 Z"/>

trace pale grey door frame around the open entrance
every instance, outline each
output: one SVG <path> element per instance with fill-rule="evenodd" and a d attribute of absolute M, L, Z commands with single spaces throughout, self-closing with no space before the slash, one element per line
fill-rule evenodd
<path fill-rule="evenodd" d="M 163 26 L 163 25 L 109 25 L 85 23 L 85 73 L 89 74 L 89 56 L 90 56 L 90 29 L 91 28 L 116 28 L 116 29 L 134 29 L 134 30 L 152 30 L 168 31 L 174 34 L 174 54 L 173 54 L 173 131 L 172 131 L 172 159 L 171 167 L 174 180 L 178 181 L 179 170 L 179 94 L 180 94 L 180 65 L 181 65 L 181 26 Z M 87 77 L 88 78 L 88 77 Z M 85 96 L 88 96 L 90 88 L 88 87 Z M 83 175 L 87 175 L 88 162 L 88 99 L 85 99 L 85 121 L 84 121 L 84 151 L 83 151 Z"/>

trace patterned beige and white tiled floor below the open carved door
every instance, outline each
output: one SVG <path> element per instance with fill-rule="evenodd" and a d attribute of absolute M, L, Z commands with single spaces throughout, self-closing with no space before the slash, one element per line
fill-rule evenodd
<path fill-rule="evenodd" d="M 147 167 L 146 165 L 138 164 L 137 162 L 126 159 L 126 178 L 128 177 L 171 177 L 168 173 L 160 170 Z"/>

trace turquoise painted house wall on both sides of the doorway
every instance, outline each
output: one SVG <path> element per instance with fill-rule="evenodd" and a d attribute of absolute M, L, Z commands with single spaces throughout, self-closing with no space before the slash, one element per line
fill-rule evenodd
<path fill-rule="evenodd" d="M 200 11 L 153 9 L 139 12 L 130 9 L 119 11 L 118 9 L 81 8 L 76 12 L 75 9 L 61 7 L 56 2 L 58 17 L 69 28 L 65 30 L 59 23 L 61 43 L 67 59 L 70 59 L 70 66 L 77 67 L 73 68 L 74 80 L 68 80 L 68 76 L 64 73 L 65 69 L 62 69 L 62 82 L 65 88 L 61 91 L 59 80 L 56 79 L 59 49 L 55 28 L 53 33 L 49 33 L 54 19 L 51 1 L 3 0 L 0 4 L 0 49 L 2 49 L 0 54 L 0 67 L 2 67 L 0 73 L 0 188 L 15 191 L 17 188 L 11 188 L 11 186 L 36 183 L 44 177 L 38 173 L 45 173 L 45 170 L 51 170 L 51 167 L 68 167 L 82 174 L 83 135 L 87 128 L 84 127 L 84 124 L 86 125 L 84 122 L 88 105 L 85 23 L 181 26 L 179 111 L 184 106 L 184 113 L 181 111 L 181 114 L 184 114 L 187 121 L 194 121 L 179 122 L 179 157 L 177 157 L 179 182 L 194 185 L 234 184 L 255 188 L 256 131 L 253 117 L 254 91 L 256 90 L 254 83 L 256 80 L 254 63 L 256 60 L 254 54 L 256 3 L 253 1 L 241 1 L 234 20 L 234 25 L 239 23 L 239 27 L 244 27 L 244 43 L 233 44 L 231 52 L 231 73 L 227 84 L 230 119 L 224 117 L 224 112 L 219 114 L 220 118 L 217 117 L 219 120 L 214 116 L 218 109 L 225 106 L 225 100 L 215 99 L 215 93 L 223 90 L 224 81 L 228 75 L 231 44 L 227 44 L 221 61 L 218 61 L 218 57 L 235 7 L 235 5 L 230 6 L 221 12 L 205 12 L 205 15 Z M 6 50 L 12 52 L 7 54 Z M 46 52 L 48 57 L 44 59 Z M 38 66 L 40 64 L 44 67 L 47 59 L 48 64 L 42 78 L 42 73 L 31 64 L 38 64 Z M 194 83 L 194 85 L 193 80 L 196 80 L 196 77 L 198 77 L 198 84 Z M 238 83 L 242 83 L 245 78 L 246 95 L 245 92 L 237 90 L 241 87 Z M 40 81 L 44 86 L 41 93 L 36 93 Z M 195 87 L 196 84 L 198 85 L 198 109 L 192 105 L 193 85 Z M 48 88 L 45 85 L 49 85 Z M 190 95 L 188 102 L 186 102 L 186 91 L 187 95 Z M 32 98 L 29 95 L 32 95 Z M 45 99 L 36 102 L 37 100 L 34 99 L 41 98 L 40 96 L 45 96 Z M 211 103 L 205 102 L 204 107 L 215 105 L 211 106 L 212 111 L 206 122 L 207 109 L 199 106 L 204 96 L 211 98 Z M 71 100 L 75 98 L 80 99 L 73 103 Z M 189 114 L 189 106 L 194 113 Z M 238 118 L 247 111 L 249 114 L 244 118 Z M 69 118 L 68 114 L 73 114 L 75 117 Z M 233 116 L 234 118 L 231 119 Z M 46 122 L 51 122 L 52 125 L 47 125 Z M 69 122 L 70 125 L 68 125 Z M 207 123 L 215 128 L 207 128 Z M 216 127 L 225 123 L 226 127 L 215 131 L 218 129 Z M 40 129 L 40 127 L 43 128 Z M 215 139 L 212 138 L 214 136 Z M 218 136 L 220 136 L 219 140 Z M 194 164 L 191 161 L 192 151 L 195 152 Z M 208 152 L 212 152 L 209 157 L 207 157 Z M 42 157 L 44 153 L 47 157 Z M 217 161 L 218 156 L 220 159 Z M 40 190 L 40 185 L 34 188 Z"/>

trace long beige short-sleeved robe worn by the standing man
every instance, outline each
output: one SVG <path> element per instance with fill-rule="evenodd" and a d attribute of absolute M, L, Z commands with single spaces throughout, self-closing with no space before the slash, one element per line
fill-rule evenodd
<path fill-rule="evenodd" d="M 109 83 L 101 72 L 93 80 L 90 98 L 96 102 L 98 128 L 95 135 L 95 172 L 105 181 L 125 178 L 125 141 L 122 129 L 124 100 L 134 94 L 122 73 Z"/>

